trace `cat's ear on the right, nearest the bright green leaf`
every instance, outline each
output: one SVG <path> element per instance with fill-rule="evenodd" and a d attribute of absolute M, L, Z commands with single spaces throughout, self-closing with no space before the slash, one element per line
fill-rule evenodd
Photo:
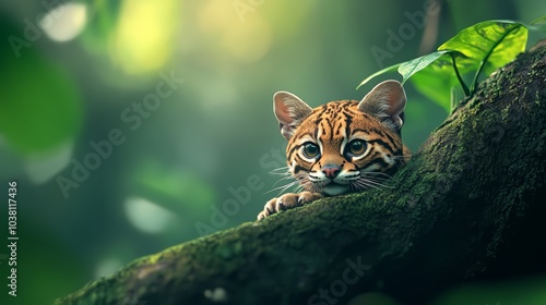
<path fill-rule="evenodd" d="M 384 81 L 373 87 L 358 103 L 358 109 L 379 117 L 393 124 L 400 131 L 404 123 L 406 93 L 397 81 Z"/>

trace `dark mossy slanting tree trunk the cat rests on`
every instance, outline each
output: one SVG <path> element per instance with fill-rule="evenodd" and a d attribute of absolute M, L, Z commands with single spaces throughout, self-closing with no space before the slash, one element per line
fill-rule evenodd
<path fill-rule="evenodd" d="M 424 304 L 464 281 L 545 272 L 545 68 L 543 40 L 483 82 L 392 188 L 174 246 L 57 302 L 344 304 L 380 291 Z"/>

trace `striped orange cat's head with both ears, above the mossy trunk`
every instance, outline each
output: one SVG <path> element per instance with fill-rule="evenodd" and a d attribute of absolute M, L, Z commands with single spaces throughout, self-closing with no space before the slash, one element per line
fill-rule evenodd
<path fill-rule="evenodd" d="M 290 93 L 276 93 L 273 110 L 288 141 L 289 172 L 304 190 L 329 196 L 381 185 L 404 163 L 405 103 L 396 81 L 377 85 L 360 101 L 314 109 Z"/>

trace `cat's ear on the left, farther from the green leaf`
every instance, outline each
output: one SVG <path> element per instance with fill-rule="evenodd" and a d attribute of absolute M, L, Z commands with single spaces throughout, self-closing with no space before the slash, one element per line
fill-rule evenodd
<path fill-rule="evenodd" d="M 278 91 L 273 95 L 273 112 L 278 121 L 281 134 L 290 139 L 294 130 L 311 114 L 312 108 L 290 93 Z"/>

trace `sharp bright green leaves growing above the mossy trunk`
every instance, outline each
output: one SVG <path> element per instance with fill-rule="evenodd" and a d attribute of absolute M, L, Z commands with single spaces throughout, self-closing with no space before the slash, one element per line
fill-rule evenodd
<path fill-rule="evenodd" d="M 420 93 L 449 111 L 456 84 L 460 83 L 466 95 L 472 94 L 483 71 L 491 73 L 525 49 L 527 32 L 526 25 L 519 22 L 482 22 L 461 30 L 438 51 L 383 69 L 367 77 L 360 86 L 397 68 L 402 83 L 412 77 Z M 474 80 L 468 89 L 463 78 L 471 72 L 474 72 Z"/>

